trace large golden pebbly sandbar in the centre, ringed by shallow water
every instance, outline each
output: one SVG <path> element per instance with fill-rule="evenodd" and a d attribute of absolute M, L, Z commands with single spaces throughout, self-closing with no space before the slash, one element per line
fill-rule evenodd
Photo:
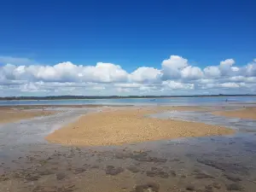
<path fill-rule="evenodd" d="M 76 122 L 51 133 L 46 139 L 51 143 L 102 146 L 234 133 L 231 129 L 216 125 L 144 116 L 160 110 L 163 109 L 125 108 L 89 113 Z"/>

